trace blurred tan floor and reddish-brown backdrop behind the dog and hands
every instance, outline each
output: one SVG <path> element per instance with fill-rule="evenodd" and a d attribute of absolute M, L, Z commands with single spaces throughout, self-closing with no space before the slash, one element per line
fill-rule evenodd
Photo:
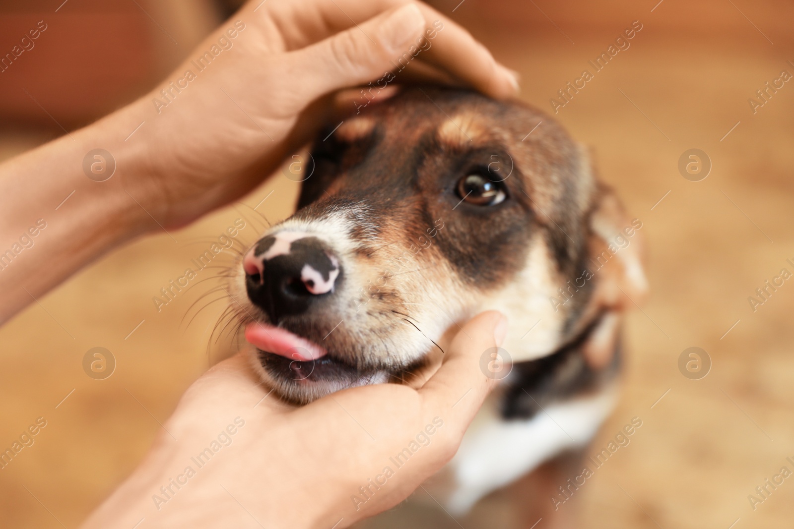
<path fill-rule="evenodd" d="M 643 223 L 652 295 L 629 317 L 622 398 L 593 448 L 634 416 L 642 427 L 561 508 L 579 513 L 576 527 L 791 527 L 794 479 L 765 499 L 756 487 L 794 471 L 794 282 L 763 305 L 749 297 L 761 301 L 756 289 L 794 272 L 794 82 L 779 80 L 794 75 L 792 3 L 433 3 L 520 72 L 521 98 L 591 148 Z M 0 73 L 0 159 L 144 94 L 234 9 L 233 0 L 0 1 L 2 56 L 46 25 Z M 634 21 L 642 29 L 630 48 L 559 98 Z M 680 170 L 690 149 L 708 171 Z M 152 297 L 235 220 L 246 226 L 238 240 L 252 243 L 264 225 L 252 208 L 282 219 L 297 191 L 280 174 L 268 179 L 244 204 L 176 232 L 176 243 L 149 236 L 114 251 L 0 328 L 0 447 L 47 421 L 0 470 L 2 527 L 76 527 L 133 470 L 187 385 L 235 350 L 228 329 L 214 332 L 221 296 L 201 298 L 232 256 L 159 312 Z M 83 370 L 93 347 L 115 358 L 109 378 Z M 689 347 L 710 369 L 680 368 Z M 505 501 L 495 493 L 460 520 L 397 508 L 367 527 L 507 527 Z"/>

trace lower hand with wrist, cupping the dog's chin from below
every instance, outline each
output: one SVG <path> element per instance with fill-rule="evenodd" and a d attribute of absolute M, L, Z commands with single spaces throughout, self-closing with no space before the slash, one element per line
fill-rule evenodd
<path fill-rule="evenodd" d="M 422 388 L 369 385 L 302 408 L 269 394 L 249 357 L 230 358 L 187 390 L 145 462 L 83 527 L 330 529 L 391 508 L 457 451 L 493 383 L 480 356 L 506 330 L 484 312 Z"/>

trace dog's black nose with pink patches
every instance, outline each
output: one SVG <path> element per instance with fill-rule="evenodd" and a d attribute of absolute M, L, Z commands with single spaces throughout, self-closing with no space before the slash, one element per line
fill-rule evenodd
<path fill-rule="evenodd" d="M 263 237 L 243 258 L 251 301 L 277 324 L 328 299 L 341 282 L 341 266 L 330 247 L 306 232 Z"/>

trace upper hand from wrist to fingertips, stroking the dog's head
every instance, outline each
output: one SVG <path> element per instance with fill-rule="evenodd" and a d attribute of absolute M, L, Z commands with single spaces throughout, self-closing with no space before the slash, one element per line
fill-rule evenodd
<path fill-rule="evenodd" d="M 306 143 L 330 110 L 326 95 L 380 80 L 348 102 L 353 110 L 417 77 L 495 97 L 517 86 L 464 29 L 420 2 L 249 2 L 137 103 L 128 123 L 145 121 L 133 141 L 147 165 L 129 192 L 165 227 L 185 224 L 251 190 Z"/>

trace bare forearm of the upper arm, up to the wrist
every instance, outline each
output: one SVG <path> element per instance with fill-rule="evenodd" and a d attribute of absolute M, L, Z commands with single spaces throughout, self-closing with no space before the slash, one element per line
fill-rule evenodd
<path fill-rule="evenodd" d="M 110 248 L 156 228 L 128 185 L 144 171 L 141 144 L 125 142 L 142 111 L 133 103 L 0 165 L 0 324 Z M 104 182 L 97 180 L 109 166 L 103 173 L 100 159 L 90 159 L 99 163 L 89 171 L 94 179 L 83 171 L 96 148 L 115 159 Z"/>

